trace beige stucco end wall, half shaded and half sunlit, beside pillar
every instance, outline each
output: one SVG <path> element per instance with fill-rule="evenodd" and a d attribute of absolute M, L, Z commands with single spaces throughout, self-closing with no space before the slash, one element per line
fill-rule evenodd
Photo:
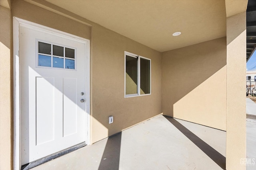
<path fill-rule="evenodd" d="M 163 53 L 162 112 L 226 130 L 226 37 Z"/>

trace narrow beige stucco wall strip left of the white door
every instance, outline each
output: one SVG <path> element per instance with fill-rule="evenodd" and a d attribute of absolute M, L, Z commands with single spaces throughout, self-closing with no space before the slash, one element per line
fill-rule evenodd
<path fill-rule="evenodd" d="M 11 11 L 0 6 L 0 169 L 12 168 Z"/>

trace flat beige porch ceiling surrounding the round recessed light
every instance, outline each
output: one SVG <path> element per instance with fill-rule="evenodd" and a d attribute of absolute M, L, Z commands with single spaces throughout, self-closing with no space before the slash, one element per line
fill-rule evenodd
<path fill-rule="evenodd" d="M 160 52 L 226 36 L 225 0 L 46 1 Z"/>

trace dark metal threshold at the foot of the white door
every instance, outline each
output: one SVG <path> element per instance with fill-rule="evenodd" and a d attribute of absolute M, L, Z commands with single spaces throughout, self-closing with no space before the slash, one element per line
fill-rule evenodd
<path fill-rule="evenodd" d="M 24 164 L 24 165 L 21 166 L 21 170 L 29 170 L 29 169 L 31 169 L 31 168 L 34 168 L 34 167 L 40 165 L 40 164 L 44 164 L 44 163 L 46 163 L 46 162 L 48 162 L 48 161 L 50 161 L 50 160 L 53 160 L 53 159 L 58 158 L 58 157 L 60 157 L 60 156 L 63 156 L 64 154 L 68 154 L 68 153 L 70 153 L 70 152 L 73 152 L 74 150 L 80 149 L 80 148 L 82 148 L 82 147 L 84 147 L 84 146 L 86 146 L 86 143 L 85 143 L 85 142 L 79 143 L 78 145 L 74 145 L 74 146 L 72 146 L 72 147 L 70 147 L 70 148 L 61 150 L 61 151 L 59 151 L 59 152 L 56 152 L 56 153 L 51 154 L 51 155 L 49 155 L 49 156 L 46 156 L 46 157 L 44 157 L 44 158 L 40 158 L 40 159 L 35 160 L 35 161 L 33 161 L 33 162 Z"/>

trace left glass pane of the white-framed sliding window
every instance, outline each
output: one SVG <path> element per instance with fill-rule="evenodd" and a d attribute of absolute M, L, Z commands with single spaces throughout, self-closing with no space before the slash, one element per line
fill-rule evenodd
<path fill-rule="evenodd" d="M 138 58 L 126 55 L 126 94 L 138 94 Z"/>

